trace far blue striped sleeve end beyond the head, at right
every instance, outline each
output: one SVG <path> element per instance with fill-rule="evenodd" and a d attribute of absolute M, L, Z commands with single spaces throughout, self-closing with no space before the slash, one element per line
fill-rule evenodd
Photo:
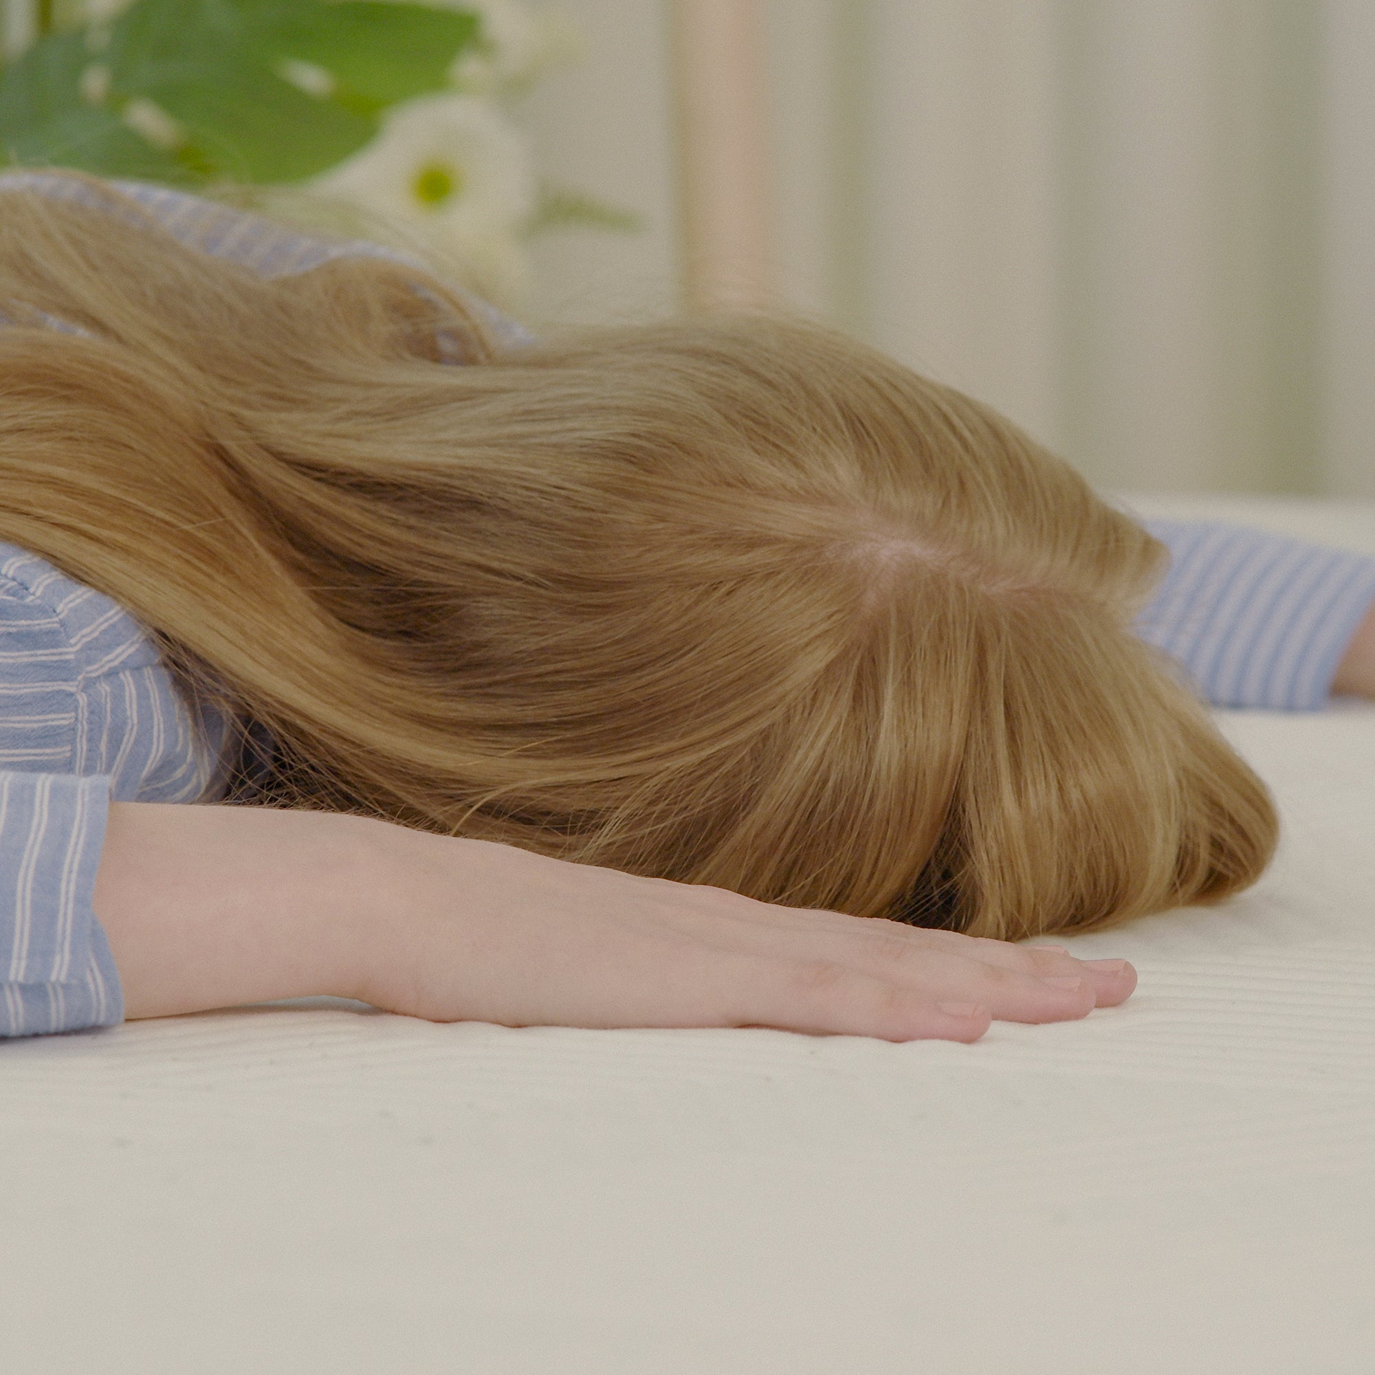
<path fill-rule="evenodd" d="M 1214 705 L 1324 707 L 1375 601 L 1375 560 L 1214 521 L 1144 524 L 1170 569 L 1137 634 Z"/>

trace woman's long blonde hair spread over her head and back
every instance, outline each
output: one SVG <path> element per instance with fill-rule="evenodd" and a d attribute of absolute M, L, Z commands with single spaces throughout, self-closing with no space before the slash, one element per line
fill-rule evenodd
<path fill-rule="evenodd" d="M 499 352 L 102 194 L 0 195 L 0 536 L 265 725 L 267 800 L 1011 939 L 1269 859 L 1132 634 L 1162 547 L 978 402 L 774 318 Z"/>

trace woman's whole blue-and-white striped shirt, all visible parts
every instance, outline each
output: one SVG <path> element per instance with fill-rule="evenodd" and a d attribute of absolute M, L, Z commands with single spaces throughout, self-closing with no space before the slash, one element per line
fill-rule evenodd
<path fill-rule="evenodd" d="M 116 184 L 184 243 L 265 275 L 341 254 L 421 267 L 179 191 Z M 41 172 L 0 175 L 0 191 L 8 187 L 91 199 L 80 183 Z M 529 340 L 485 302 L 474 308 L 505 342 Z M 1320 708 L 1375 601 L 1375 560 L 1232 525 L 1147 524 L 1170 547 L 1172 565 L 1138 622 L 1143 638 L 1217 705 Z M 128 612 L 0 543 L 0 1037 L 122 1020 L 120 975 L 92 906 L 107 806 L 216 802 L 228 781 L 231 727 L 184 701 Z"/>

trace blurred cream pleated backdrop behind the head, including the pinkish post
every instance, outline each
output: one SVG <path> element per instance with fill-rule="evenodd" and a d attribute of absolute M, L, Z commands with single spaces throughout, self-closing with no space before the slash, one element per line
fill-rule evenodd
<path fill-rule="evenodd" d="M 781 301 L 1107 488 L 1375 496 L 1371 0 L 527 8 L 510 117 L 637 223 L 529 241 L 536 326 Z"/>

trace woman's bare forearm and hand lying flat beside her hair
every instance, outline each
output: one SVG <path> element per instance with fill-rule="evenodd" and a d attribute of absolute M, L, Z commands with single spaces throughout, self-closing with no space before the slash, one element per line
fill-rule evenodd
<path fill-rule="evenodd" d="M 434 1022 L 974 1041 L 1136 984 L 1060 947 L 260 807 L 113 803 L 95 910 L 129 1018 L 334 994 Z"/>

